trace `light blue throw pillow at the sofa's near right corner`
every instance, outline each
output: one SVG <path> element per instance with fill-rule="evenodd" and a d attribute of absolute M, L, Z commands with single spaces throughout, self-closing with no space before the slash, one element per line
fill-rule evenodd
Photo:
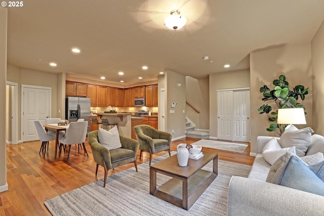
<path fill-rule="evenodd" d="M 323 176 L 323 164 L 314 165 L 311 165 L 311 168 L 317 170 L 317 175 Z M 316 174 L 297 156 L 292 156 L 282 172 L 279 185 L 324 196 L 324 182 Z"/>

